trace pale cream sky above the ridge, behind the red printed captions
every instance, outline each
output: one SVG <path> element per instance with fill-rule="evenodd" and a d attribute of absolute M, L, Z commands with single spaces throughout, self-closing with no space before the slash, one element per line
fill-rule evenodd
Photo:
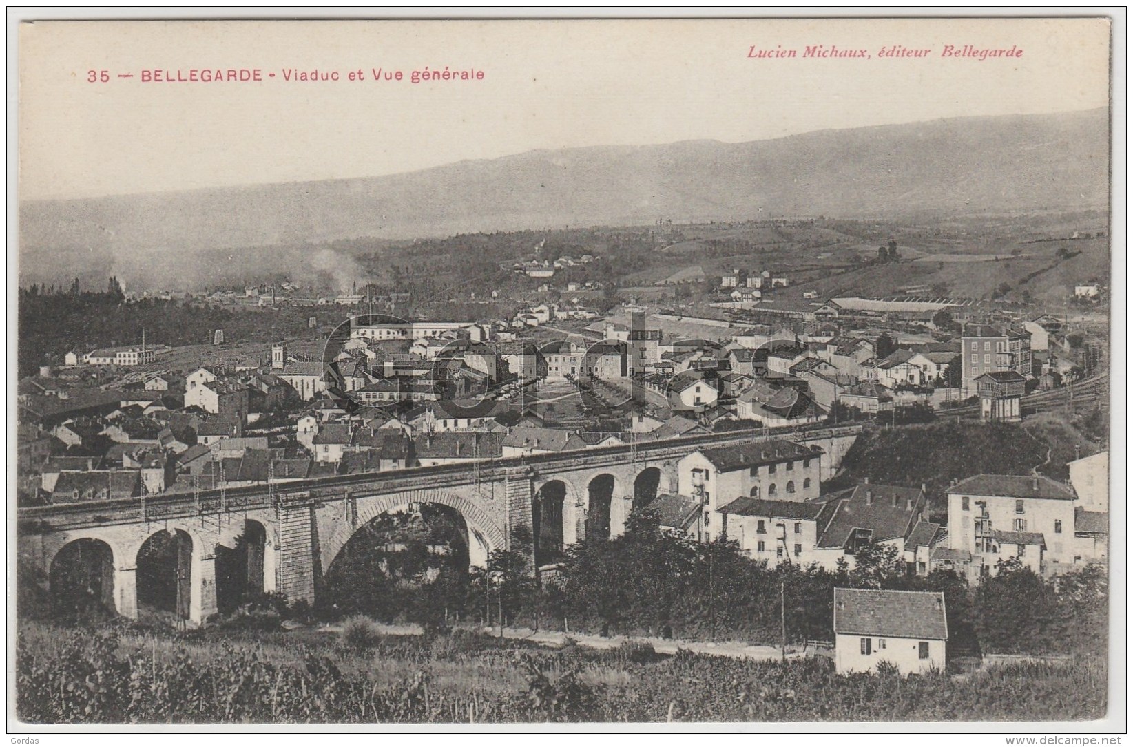
<path fill-rule="evenodd" d="M 19 34 L 19 197 L 375 177 L 538 148 L 1080 111 L 1108 104 L 1108 20 L 1068 18 L 40 22 Z M 869 58 L 804 57 L 817 45 Z M 930 52 L 880 55 L 894 45 Z M 1022 55 L 942 57 L 946 45 Z M 755 58 L 752 46 L 796 57 Z M 411 71 L 426 66 L 483 78 L 412 84 Z M 263 80 L 142 80 L 146 70 L 215 68 L 258 69 Z M 375 81 L 376 68 L 403 79 Z M 340 80 L 288 80 L 289 69 Z M 349 80 L 358 70 L 365 79 Z"/>

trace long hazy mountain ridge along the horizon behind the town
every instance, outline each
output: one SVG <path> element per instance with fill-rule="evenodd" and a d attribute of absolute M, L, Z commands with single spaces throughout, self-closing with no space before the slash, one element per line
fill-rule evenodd
<path fill-rule="evenodd" d="M 22 282 L 207 282 L 312 244 L 658 217 L 900 217 L 1108 203 L 1108 112 L 961 118 L 774 140 L 534 151 L 390 177 L 20 204 Z M 761 208 L 761 209 L 760 209 Z M 256 250 L 246 249 L 257 247 Z M 273 247 L 284 247 L 281 256 Z M 231 255 L 231 258 L 229 257 Z M 299 266 L 296 265 L 296 266 Z"/>

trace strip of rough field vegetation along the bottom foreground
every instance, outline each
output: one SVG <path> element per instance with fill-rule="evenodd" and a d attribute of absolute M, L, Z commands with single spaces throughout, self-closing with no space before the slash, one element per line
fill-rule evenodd
<path fill-rule="evenodd" d="M 32 723 L 1045 721 L 1106 709 L 1097 659 L 842 677 L 828 659 L 550 651 L 462 632 L 252 638 L 25 622 L 16 685 Z"/>

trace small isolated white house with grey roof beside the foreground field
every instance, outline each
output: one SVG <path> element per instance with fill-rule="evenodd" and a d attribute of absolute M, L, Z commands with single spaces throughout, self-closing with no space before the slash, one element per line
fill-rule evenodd
<path fill-rule="evenodd" d="M 902 675 L 944 671 L 948 618 L 943 592 L 834 590 L 834 663 L 840 675 L 888 662 Z"/>

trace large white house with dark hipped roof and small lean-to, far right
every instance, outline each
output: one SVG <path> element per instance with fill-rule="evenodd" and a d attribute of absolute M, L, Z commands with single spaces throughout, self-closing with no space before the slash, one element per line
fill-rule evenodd
<path fill-rule="evenodd" d="M 1076 496 L 1068 486 L 1041 475 L 978 474 L 947 495 L 948 547 L 972 555 L 970 573 L 1007 558 L 1040 573 L 1073 566 Z"/>

